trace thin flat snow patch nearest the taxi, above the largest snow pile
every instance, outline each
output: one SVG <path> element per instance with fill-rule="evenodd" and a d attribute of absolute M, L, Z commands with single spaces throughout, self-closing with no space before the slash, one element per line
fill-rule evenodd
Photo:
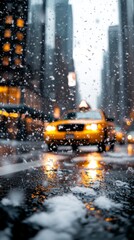
<path fill-rule="evenodd" d="M 71 191 L 76 194 L 83 194 L 85 196 L 95 196 L 96 192 L 91 188 L 86 187 L 73 187 L 71 188 Z"/>

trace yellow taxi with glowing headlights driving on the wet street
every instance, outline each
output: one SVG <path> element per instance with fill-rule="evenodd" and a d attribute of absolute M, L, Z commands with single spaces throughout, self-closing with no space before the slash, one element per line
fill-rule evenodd
<path fill-rule="evenodd" d="M 102 110 L 69 111 L 63 117 L 49 123 L 44 139 L 50 151 L 59 145 L 71 145 L 73 151 L 81 145 L 97 145 L 99 152 L 106 150 L 106 144 L 114 149 L 115 125 L 112 118 L 106 118 Z"/>

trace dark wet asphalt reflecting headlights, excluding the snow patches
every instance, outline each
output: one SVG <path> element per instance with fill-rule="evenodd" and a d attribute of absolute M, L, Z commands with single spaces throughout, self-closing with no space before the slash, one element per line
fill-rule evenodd
<path fill-rule="evenodd" d="M 14 173 L 10 173 L 9 168 L 8 174 L 0 176 L 1 240 L 34 238 L 42 228 L 26 223 L 25 219 L 47 211 L 43 205 L 47 199 L 72 193 L 71 189 L 76 186 L 93 189 L 96 195 L 73 192 L 84 204 L 86 215 L 70 239 L 133 239 L 134 146 L 118 145 L 115 153 L 102 154 L 90 149 L 78 153 L 70 149 L 49 153 L 44 143 L 31 144 L 26 150 L 25 146 L 9 144 L 6 151 L 4 145 L 4 154 L 0 156 L 1 168 L 31 164 L 29 168 Z M 42 165 L 37 167 L 34 164 L 38 161 Z M 21 204 L 4 205 L 2 199 L 16 190 L 23 195 Z M 105 196 L 121 207 L 100 208 L 94 204 L 99 196 Z"/>

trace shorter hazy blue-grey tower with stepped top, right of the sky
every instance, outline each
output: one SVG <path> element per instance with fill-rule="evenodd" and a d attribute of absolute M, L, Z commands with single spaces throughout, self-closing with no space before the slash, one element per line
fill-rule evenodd
<path fill-rule="evenodd" d="M 119 27 L 108 29 L 108 51 L 103 55 L 101 73 L 102 107 L 107 115 L 113 116 L 116 123 L 120 120 L 120 76 L 119 76 Z"/>

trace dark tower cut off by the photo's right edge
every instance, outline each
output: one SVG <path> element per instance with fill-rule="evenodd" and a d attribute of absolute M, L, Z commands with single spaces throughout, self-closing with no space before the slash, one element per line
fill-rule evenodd
<path fill-rule="evenodd" d="M 134 119 L 134 1 L 118 2 L 122 117 Z"/>

